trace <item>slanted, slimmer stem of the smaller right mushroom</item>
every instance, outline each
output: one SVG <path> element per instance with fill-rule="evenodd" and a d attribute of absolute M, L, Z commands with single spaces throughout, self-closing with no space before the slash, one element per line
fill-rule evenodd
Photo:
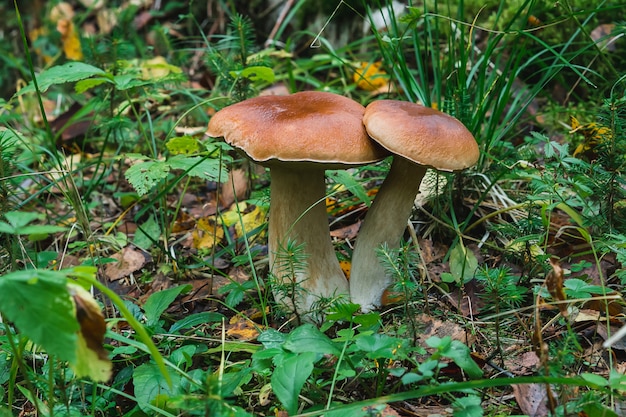
<path fill-rule="evenodd" d="M 381 296 L 391 284 L 376 249 L 386 243 L 398 248 L 411 216 L 415 196 L 426 173 L 424 166 L 395 155 L 385 181 L 369 208 L 352 255 L 350 296 L 363 312 L 380 306 Z"/>

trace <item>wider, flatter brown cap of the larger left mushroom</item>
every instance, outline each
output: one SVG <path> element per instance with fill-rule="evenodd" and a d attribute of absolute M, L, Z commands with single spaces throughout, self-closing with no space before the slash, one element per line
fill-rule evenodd
<path fill-rule="evenodd" d="M 365 107 L 333 93 L 304 91 L 251 98 L 215 113 L 207 135 L 264 165 L 308 162 L 325 169 L 379 161 L 387 152 L 363 126 Z"/>

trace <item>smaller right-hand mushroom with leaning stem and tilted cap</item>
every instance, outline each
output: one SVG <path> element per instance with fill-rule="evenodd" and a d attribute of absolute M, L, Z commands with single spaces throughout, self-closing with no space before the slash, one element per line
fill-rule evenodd
<path fill-rule="evenodd" d="M 478 161 L 478 145 L 457 119 L 419 104 L 380 100 L 365 109 L 372 139 L 394 154 L 391 168 L 370 207 L 352 256 L 350 296 L 364 312 L 381 304 L 391 283 L 376 255 L 383 244 L 400 246 L 427 167 L 458 171 Z"/>

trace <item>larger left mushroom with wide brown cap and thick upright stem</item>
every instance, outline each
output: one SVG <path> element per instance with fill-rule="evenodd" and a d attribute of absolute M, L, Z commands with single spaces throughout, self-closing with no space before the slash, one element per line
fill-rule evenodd
<path fill-rule="evenodd" d="M 365 132 L 364 111 L 349 98 L 309 91 L 248 99 L 218 111 L 209 122 L 209 136 L 223 136 L 270 168 L 268 251 L 278 284 L 273 292 L 278 303 L 298 314 L 321 297 L 349 294 L 330 238 L 324 171 L 387 155 Z M 280 256 L 289 241 L 304 244 L 304 264 L 295 273 Z M 286 295 L 285 288 L 295 293 Z"/>

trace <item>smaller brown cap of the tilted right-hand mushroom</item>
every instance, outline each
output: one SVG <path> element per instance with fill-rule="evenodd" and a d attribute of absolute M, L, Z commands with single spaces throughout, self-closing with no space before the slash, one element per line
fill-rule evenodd
<path fill-rule="evenodd" d="M 419 104 L 379 100 L 365 109 L 367 133 L 390 152 L 441 171 L 478 161 L 478 144 L 457 119 Z"/>

